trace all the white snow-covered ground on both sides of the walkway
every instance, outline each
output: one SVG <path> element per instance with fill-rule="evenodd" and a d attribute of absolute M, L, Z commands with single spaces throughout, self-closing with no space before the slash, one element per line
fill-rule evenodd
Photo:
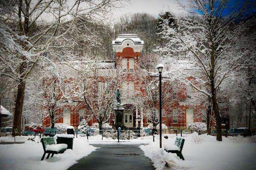
<path fill-rule="evenodd" d="M 167 134 L 167 136 L 169 137 L 167 140 L 162 138 L 163 146 L 173 145 L 176 135 Z M 159 148 L 159 135 L 156 135 L 155 142 L 152 136 L 147 136 L 120 140 L 119 144 L 141 145 L 140 148 L 145 156 L 152 160 L 157 170 L 254 170 L 256 167 L 256 143 L 252 143 L 249 137 L 223 137 L 223 142 L 217 142 L 215 137 L 207 135 L 184 135 L 182 138 L 185 139 L 182 151 L 184 161 L 176 154 L 167 153 Z M 1 170 L 65 170 L 78 159 L 95 151 L 96 148 L 89 144 L 117 144 L 117 139 L 102 140 L 101 135 L 89 137 L 89 142 L 86 137 L 78 137 L 74 139 L 73 150 L 68 149 L 64 154 L 40 161 L 43 148 L 39 137 L 35 142 L 27 139 L 28 137 L 24 136 L 16 138 L 16 141 L 25 141 L 24 144 L 0 145 Z M 1 137 L 0 142 L 3 141 L 14 141 L 14 138 Z"/>

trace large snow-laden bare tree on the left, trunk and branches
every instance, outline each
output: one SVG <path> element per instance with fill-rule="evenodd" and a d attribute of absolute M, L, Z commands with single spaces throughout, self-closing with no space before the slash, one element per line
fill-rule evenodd
<path fill-rule="evenodd" d="M 66 0 L 1 2 L 0 70 L 1 76 L 14 79 L 17 84 L 12 132 L 15 136 L 20 135 L 26 80 L 40 61 L 45 59 L 51 62 L 43 54 L 70 46 L 72 38 L 68 33 L 77 20 L 103 21 L 112 8 L 120 5 L 121 0 L 74 0 L 69 3 Z M 45 18 L 50 21 L 44 21 Z M 61 60 L 68 60 L 60 50 L 54 54 Z"/>

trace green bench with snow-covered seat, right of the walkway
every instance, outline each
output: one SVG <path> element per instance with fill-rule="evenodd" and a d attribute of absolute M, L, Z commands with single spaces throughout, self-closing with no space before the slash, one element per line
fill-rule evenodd
<path fill-rule="evenodd" d="M 175 153 L 178 157 L 180 157 L 182 160 L 185 160 L 181 151 L 184 145 L 185 139 L 177 137 L 175 140 L 174 145 L 170 145 L 165 143 L 164 144 L 164 150 L 167 152 Z"/>

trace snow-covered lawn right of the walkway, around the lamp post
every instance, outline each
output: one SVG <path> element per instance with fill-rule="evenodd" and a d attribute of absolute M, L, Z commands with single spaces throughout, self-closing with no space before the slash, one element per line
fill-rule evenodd
<path fill-rule="evenodd" d="M 164 135 L 163 135 L 164 136 Z M 173 145 L 176 135 L 167 135 L 164 144 Z M 255 170 L 256 143 L 250 138 L 223 137 L 217 142 L 216 137 L 207 135 L 185 135 L 182 154 L 183 161 L 176 154 L 167 153 L 159 148 L 159 135 L 156 142 L 140 146 L 145 156 L 149 157 L 157 170 L 162 169 L 189 169 L 189 170 Z M 255 136 L 254 136 L 255 138 Z M 197 142 L 195 142 L 197 141 Z"/>

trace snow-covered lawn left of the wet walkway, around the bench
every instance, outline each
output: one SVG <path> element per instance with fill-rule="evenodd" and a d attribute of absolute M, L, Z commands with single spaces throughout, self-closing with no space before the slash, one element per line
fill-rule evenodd
<path fill-rule="evenodd" d="M 40 161 L 44 150 L 39 137 L 35 142 L 27 139 L 27 136 L 21 136 L 16 141 L 25 141 L 23 144 L 0 145 L 0 170 L 66 170 L 96 149 L 89 145 L 87 138 L 74 138 L 73 150 L 67 149 L 49 159 L 46 154 Z M 14 141 L 14 138 L 1 137 L 0 141 Z"/>

